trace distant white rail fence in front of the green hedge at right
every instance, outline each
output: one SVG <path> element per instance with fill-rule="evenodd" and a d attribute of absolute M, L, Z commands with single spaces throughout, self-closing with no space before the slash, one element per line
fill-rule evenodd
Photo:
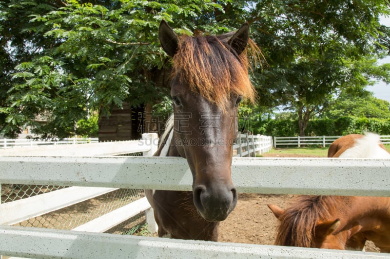
<path fill-rule="evenodd" d="M 341 136 L 315 136 L 315 137 L 273 137 L 273 147 L 277 146 L 298 146 L 320 145 L 329 146 L 334 140 Z M 390 144 L 390 136 L 380 136 L 384 144 Z"/>

